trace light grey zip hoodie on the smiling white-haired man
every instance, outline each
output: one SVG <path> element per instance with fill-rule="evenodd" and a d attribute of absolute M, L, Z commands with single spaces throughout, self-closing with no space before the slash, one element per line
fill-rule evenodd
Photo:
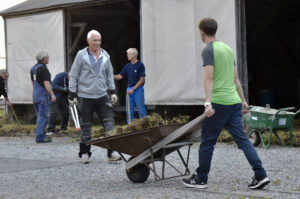
<path fill-rule="evenodd" d="M 101 48 L 103 61 L 99 74 L 96 74 L 90 62 L 87 47 L 78 51 L 70 71 L 69 90 L 78 97 L 97 99 L 115 90 L 114 72 L 109 54 Z"/>

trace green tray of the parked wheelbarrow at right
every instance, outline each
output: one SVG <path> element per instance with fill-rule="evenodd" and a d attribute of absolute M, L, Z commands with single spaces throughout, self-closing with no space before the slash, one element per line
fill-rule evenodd
<path fill-rule="evenodd" d="M 243 116 L 244 121 L 252 129 L 286 129 L 293 125 L 294 113 L 282 111 L 275 115 L 278 110 L 254 106 L 250 113 Z M 274 120 L 274 121 L 273 121 Z"/>

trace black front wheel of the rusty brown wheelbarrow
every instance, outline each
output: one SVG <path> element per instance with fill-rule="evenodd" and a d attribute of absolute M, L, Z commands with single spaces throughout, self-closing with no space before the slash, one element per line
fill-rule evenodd
<path fill-rule="evenodd" d="M 134 157 L 131 157 L 129 160 L 133 158 Z M 126 174 L 131 182 L 143 183 L 148 179 L 150 169 L 145 164 L 138 164 L 131 169 L 126 170 Z"/>

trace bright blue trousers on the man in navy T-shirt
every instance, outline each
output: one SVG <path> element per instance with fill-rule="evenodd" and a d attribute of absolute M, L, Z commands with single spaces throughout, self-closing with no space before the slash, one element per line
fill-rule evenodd
<path fill-rule="evenodd" d="M 127 88 L 127 92 L 131 90 L 132 87 Z M 127 113 L 127 123 L 129 121 L 128 116 L 128 102 L 126 97 L 126 113 Z M 129 95 L 129 104 L 130 104 L 130 119 L 131 121 L 134 119 L 134 106 L 137 107 L 139 111 L 139 118 L 146 117 L 146 107 L 145 107 L 145 97 L 144 97 L 144 87 L 140 86 L 138 89 L 134 91 L 133 94 Z"/>

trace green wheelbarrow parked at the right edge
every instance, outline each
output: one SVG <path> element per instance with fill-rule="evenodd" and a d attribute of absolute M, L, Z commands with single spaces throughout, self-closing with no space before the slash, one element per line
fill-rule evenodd
<path fill-rule="evenodd" d="M 282 146 L 287 146 L 284 144 L 276 131 L 288 130 L 290 138 L 288 146 L 292 146 L 293 123 L 295 116 L 300 113 L 300 110 L 298 110 L 296 113 L 289 111 L 294 109 L 294 107 L 289 107 L 276 110 L 271 109 L 268 105 L 266 107 L 253 106 L 250 109 L 250 112 L 243 116 L 244 121 L 250 128 L 248 130 L 248 137 L 253 145 L 258 146 L 260 143 L 262 143 L 265 149 L 270 148 L 272 134 L 274 133 L 280 144 Z M 264 132 L 269 132 L 268 143 L 264 142 L 262 136 Z"/>

